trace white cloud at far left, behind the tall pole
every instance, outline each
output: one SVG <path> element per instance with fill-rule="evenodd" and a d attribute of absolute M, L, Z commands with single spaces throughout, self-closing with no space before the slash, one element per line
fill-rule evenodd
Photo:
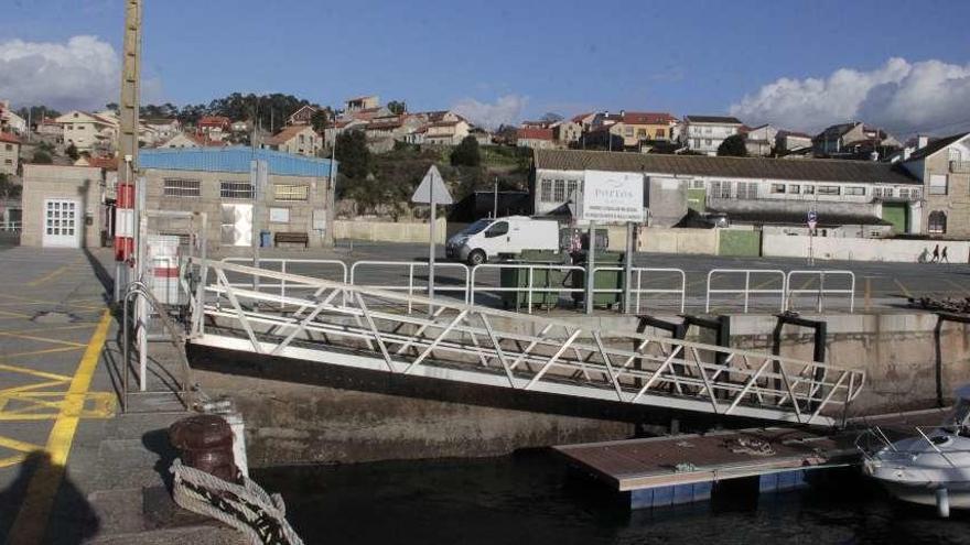
<path fill-rule="evenodd" d="M 97 36 L 0 43 L 0 98 L 20 106 L 99 109 L 120 95 L 120 58 Z"/>

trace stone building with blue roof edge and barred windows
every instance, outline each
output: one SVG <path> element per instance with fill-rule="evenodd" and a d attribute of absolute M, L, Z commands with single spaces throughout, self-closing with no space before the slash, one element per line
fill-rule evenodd
<path fill-rule="evenodd" d="M 252 186 L 251 162 L 266 161 L 267 186 Z M 211 249 L 250 247 L 257 229 L 304 233 L 310 247 L 323 247 L 333 233 L 331 162 L 270 150 L 201 148 L 146 150 L 140 155 L 147 206 L 205 212 Z"/>

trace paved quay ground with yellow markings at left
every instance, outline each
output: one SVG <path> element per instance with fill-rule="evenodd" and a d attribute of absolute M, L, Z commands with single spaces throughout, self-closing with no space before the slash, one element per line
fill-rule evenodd
<path fill-rule="evenodd" d="M 0 249 L 0 543 L 235 543 L 214 527 L 146 533 L 174 415 L 118 414 L 109 252 Z"/>

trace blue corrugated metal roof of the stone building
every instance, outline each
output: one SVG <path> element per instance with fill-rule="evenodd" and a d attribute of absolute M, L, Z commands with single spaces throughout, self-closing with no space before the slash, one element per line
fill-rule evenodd
<path fill-rule="evenodd" d="M 269 163 L 269 173 L 278 176 L 330 176 L 330 160 L 305 157 L 272 150 L 254 150 L 247 146 L 186 148 L 171 150 L 141 150 L 139 168 L 164 171 L 203 171 L 248 173 L 250 161 L 259 159 Z M 334 164 L 336 173 L 340 163 Z"/>

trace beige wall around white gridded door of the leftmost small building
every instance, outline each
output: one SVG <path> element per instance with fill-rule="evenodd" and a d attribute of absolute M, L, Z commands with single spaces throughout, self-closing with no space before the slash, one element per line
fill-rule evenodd
<path fill-rule="evenodd" d="M 23 231 L 21 246 L 40 247 L 44 233 L 44 200 L 73 199 L 78 203 L 80 244 L 101 246 L 101 205 L 104 173 L 90 166 L 24 165 L 23 166 Z M 89 220 L 89 221 L 88 221 Z"/>

